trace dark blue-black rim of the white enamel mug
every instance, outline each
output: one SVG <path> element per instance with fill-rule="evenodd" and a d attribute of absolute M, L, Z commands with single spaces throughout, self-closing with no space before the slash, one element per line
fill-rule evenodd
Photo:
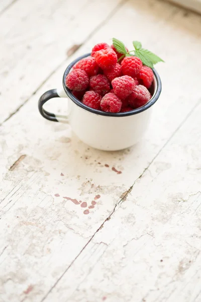
<path fill-rule="evenodd" d="M 96 109 L 92 109 L 86 105 L 84 105 L 83 103 L 81 103 L 77 98 L 75 98 L 75 96 L 72 94 L 72 92 L 70 91 L 70 89 L 68 89 L 66 86 L 65 86 L 65 78 L 66 78 L 66 75 L 69 73 L 70 69 L 73 67 L 73 65 L 75 63 L 77 63 L 79 60 L 89 56 L 90 53 L 87 53 L 87 54 L 84 54 L 78 58 L 76 58 L 74 61 L 72 61 L 68 67 L 66 68 L 64 74 L 63 74 L 63 88 L 64 88 L 64 91 L 66 93 L 66 95 L 79 107 L 81 107 L 82 109 L 86 110 L 86 111 L 89 111 L 91 113 L 94 113 L 94 114 L 97 114 L 97 115 L 104 115 L 104 116 L 114 116 L 114 117 L 123 117 L 123 116 L 130 116 L 130 115 L 134 115 L 134 114 L 138 114 L 140 112 L 143 112 L 147 109 L 149 109 L 153 104 L 156 103 L 156 101 L 158 100 L 159 96 L 160 96 L 160 93 L 161 93 L 161 80 L 160 80 L 160 77 L 159 77 L 159 74 L 158 72 L 153 68 L 153 72 L 154 72 L 154 75 L 155 75 L 155 78 L 156 78 L 156 82 L 157 82 L 157 89 L 156 89 L 156 92 L 154 94 L 154 96 L 152 97 L 152 99 L 147 103 L 145 104 L 144 106 L 140 107 L 140 108 L 137 108 L 137 109 L 134 109 L 134 110 L 131 110 L 131 111 L 127 111 L 127 112 L 118 112 L 118 113 L 111 113 L 111 112 L 104 112 L 104 111 L 100 111 L 100 110 L 96 110 Z"/>

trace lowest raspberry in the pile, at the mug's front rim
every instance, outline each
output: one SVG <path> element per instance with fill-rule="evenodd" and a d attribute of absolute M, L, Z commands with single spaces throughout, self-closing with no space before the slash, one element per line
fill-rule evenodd
<path fill-rule="evenodd" d="M 114 93 L 107 93 L 100 101 L 100 108 L 105 112 L 120 112 L 121 100 Z"/>

